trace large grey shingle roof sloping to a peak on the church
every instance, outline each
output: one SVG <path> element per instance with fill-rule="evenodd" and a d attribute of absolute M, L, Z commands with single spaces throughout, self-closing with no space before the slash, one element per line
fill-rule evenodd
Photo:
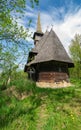
<path fill-rule="evenodd" d="M 73 62 L 65 51 L 61 41 L 56 33 L 51 29 L 49 33 L 45 33 L 39 41 L 38 45 L 33 49 L 38 54 L 35 59 L 28 63 L 28 65 L 47 62 L 47 61 L 61 61 L 72 64 Z"/>

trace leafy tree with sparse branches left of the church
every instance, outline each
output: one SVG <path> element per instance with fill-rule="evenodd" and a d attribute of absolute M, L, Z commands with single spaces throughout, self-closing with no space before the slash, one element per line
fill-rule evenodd
<path fill-rule="evenodd" d="M 38 0 L 29 2 L 32 7 L 34 3 L 38 4 Z M 0 0 L 0 69 L 5 84 L 12 71 L 16 70 L 16 64 L 21 62 L 29 49 L 27 44 L 27 38 L 30 37 L 29 29 L 24 30 L 22 26 L 18 26 L 12 16 L 12 12 L 16 12 L 22 17 L 26 3 L 27 0 Z"/>

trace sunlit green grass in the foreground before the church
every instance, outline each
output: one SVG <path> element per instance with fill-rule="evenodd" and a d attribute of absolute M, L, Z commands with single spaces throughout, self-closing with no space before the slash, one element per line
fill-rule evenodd
<path fill-rule="evenodd" d="M 0 130 L 81 130 L 81 81 L 71 80 L 73 87 L 45 89 L 27 80 L 10 86 L 23 100 L 0 92 Z"/>

